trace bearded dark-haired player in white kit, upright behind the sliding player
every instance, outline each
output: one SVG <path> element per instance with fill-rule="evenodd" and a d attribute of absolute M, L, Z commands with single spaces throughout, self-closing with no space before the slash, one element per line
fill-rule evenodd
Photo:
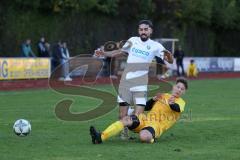
<path fill-rule="evenodd" d="M 129 38 L 120 50 L 104 52 L 105 56 L 111 57 L 119 54 L 128 55 L 118 90 L 119 119 L 127 116 L 129 105 L 132 103 L 135 106 L 135 115 L 144 112 L 149 66 L 154 57 L 173 63 L 172 54 L 160 43 L 150 39 L 152 28 L 150 20 L 141 20 L 138 24 L 139 37 Z"/>

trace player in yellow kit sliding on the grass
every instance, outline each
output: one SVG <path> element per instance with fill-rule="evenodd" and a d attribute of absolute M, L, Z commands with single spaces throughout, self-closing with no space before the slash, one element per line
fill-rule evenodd
<path fill-rule="evenodd" d="M 159 93 L 149 101 L 145 107 L 147 114 L 125 116 L 121 120 L 111 124 L 102 133 L 90 127 L 90 135 L 93 144 L 100 144 L 110 137 L 117 135 L 124 127 L 139 133 L 140 140 L 153 143 L 164 131 L 169 129 L 179 119 L 184 111 L 185 101 L 181 96 L 188 89 L 185 78 L 178 78 L 172 88 L 172 93 Z"/>

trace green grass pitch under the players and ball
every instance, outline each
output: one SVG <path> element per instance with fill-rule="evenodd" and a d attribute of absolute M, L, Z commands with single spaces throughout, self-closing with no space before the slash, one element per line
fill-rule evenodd
<path fill-rule="evenodd" d="M 240 79 L 190 81 L 184 96 L 187 105 L 183 119 L 154 144 L 114 137 L 102 145 L 92 145 L 89 126 L 103 130 L 117 119 L 117 108 L 91 121 L 67 122 L 56 118 L 54 105 L 68 96 L 50 89 L 0 92 L 0 159 L 239 160 L 239 82 Z M 104 88 L 111 92 L 110 87 Z M 100 102 L 70 98 L 75 99 L 71 108 L 74 112 L 89 110 Z M 12 125 L 19 118 L 31 122 L 32 132 L 27 137 L 13 133 Z"/>

